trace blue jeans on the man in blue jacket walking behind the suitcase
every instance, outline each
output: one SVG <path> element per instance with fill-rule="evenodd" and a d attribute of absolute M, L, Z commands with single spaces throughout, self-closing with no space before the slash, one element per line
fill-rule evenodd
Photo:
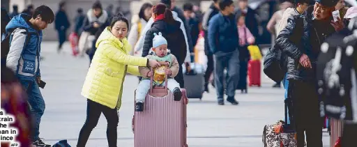
<path fill-rule="evenodd" d="M 227 68 L 227 80 L 224 78 L 224 70 Z M 234 98 L 236 86 L 239 81 L 239 53 L 234 52 L 216 52 L 215 53 L 215 90 L 217 91 L 218 101 L 223 100 L 223 94 L 227 88 L 228 98 Z M 227 82 L 224 87 L 223 82 Z"/>

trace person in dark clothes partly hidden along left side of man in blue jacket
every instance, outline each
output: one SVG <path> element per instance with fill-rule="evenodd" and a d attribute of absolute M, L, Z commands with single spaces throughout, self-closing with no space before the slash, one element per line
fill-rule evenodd
<path fill-rule="evenodd" d="M 204 29 L 204 53 L 207 56 L 207 69 L 206 73 L 204 73 L 204 91 L 208 92 L 208 80 L 209 77 L 211 77 L 211 74 L 214 69 L 213 65 L 213 54 L 211 52 L 211 49 L 209 48 L 208 45 L 208 22 L 211 20 L 211 18 L 220 13 L 220 6 L 218 6 L 218 3 L 220 0 L 213 0 L 213 3 L 211 6 L 208 8 L 206 13 L 204 13 L 204 17 L 202 18 L 202 29 Z"/>

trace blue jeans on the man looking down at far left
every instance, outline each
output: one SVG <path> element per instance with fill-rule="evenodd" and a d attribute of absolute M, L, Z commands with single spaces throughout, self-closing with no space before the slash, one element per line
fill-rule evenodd
<path fill-rule="evenodd" d="M 40 134 L 40 122 L 43 113 L 45 112 L 45 100 L 43 100 L 42 94 L 38 84 L 34 81 L 20 79 L 20 82 L 27 92 L 28 102 L 31 107 L 31 141 L 38 140 Z"/>

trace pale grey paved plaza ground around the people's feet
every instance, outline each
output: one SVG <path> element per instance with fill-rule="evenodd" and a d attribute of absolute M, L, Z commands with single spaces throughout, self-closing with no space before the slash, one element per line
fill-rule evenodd
<path fill-rule="evenodd" d="M 57 54 L 56 42 L 43 42 L 41 65 L 42 79 L 47 82 L 42 89 L 46 109 L 40 125 L 40 137 L 54 144 L 68 139 L 75 146 L 79 130 L 86 118 L 86 98 L 80 95 L 82 84 L 89 68 L 88 56 L 73 57 L 66 43 L 63 52 Z M 262 77 L 261 88 L 252 87 L 248 94 L 236 91 L 238 106 L 219 106 L 215 89 L 204 93 L 202 101 L 188 104 L 188 146 L 190 147 L 259 147 L 263 146 L 261 135 L 266 124 L 275 123 L 284 116 L 284 90 L 271 88 L 273 82 Z M 188 82 L 186 82 L 188 83 Z M 134 91 L 137 77 L 127 76 L 123 87 L 123 102 L 120 109 L 118 146 L 132 147 L 131 119 L 134 113 Z M 107 146 L 107 122 L 100 117 L 87 146 Z M 329 146 L 329 137 L 324 133 L 324 146 Z"/>

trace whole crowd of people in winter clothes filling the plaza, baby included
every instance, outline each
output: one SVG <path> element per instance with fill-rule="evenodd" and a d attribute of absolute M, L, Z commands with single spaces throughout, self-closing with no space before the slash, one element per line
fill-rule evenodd
<path fill-rule="evenodd" d="M 266 26 L 276 36 L 273 47 L 280 49 L 282 56 L 287 56 L 287 73 L 282 82 L 286 88 L 285 97 L 294 104 L 289 108 L 293 112 L 289 117 L 290 123 L 295 125 L 299 147 L 305 145 L 305 132 L 308 147 L 322 147 L 320 107 L 326 100 L 326 92 L 317 89 L 326 87 L 321 86 L 320 72 L 317 71 L 321 45 L 336 33 L 344 32 L 342 35 L 350 36 L 356 30 L 356 7 L 347 10 L 341 1 L 281 1 L 280 10 Z M 149 91 L 148 79 L 155 75 L 151 68 L 165 66 L 165 74 L 169 75 L 167 86 L 174 93 L 174 99 L 180 100 L 180 88 L 189 84 L 183 80 L 181 65 L 194 61 L 192 54 L 200 33 L 204 34 L 204 51 L 208 59 L 204 90 L 209 92 L 209 79 L 213 74 L 218 105 L 225 105 L 225 95 L 227 102 L 238 105 L 235 91 L 242 81 L 246 85 L 250 60 L 248 45 L 254 45 L 259 39 L 255 11 L 248 7 L 248 0 L 239 0 L 238 8 L 232 0 L 213 0 L 203 15 L 192 3 L 185 3 L 183 9 L 175 3 L 174 0 L 160 0 L 155 6 L 144 3 L 131 23 L 121 13 L 113 15 L 112 6 L 108 11 L 103 10 L 100 1 L 93 3 L 86 14 L 81 8 L 77 10 L 73 31 L 79 36 L 79 48 L 82 48 L 79 50 L 90 59 L 82 88 L 82 95 L 87 99 L 86 121 L 79 132 L 78 147 L 86 146 L 100 114 L 107 118 L 109 147 L 117 146 L 118 111 L 127 72 L 143 77 L 138 86 L 135 111 L 143 109 L 144 95 Z M 66 3 L 61 2 L 56 14 L 47 6 L 36 9 L 29 6 L 21 14 L 14 6 L 10 15 L 1 9 L 1 91 L 8 91 L 10 95 L 6 98 L 1 95 L 1 107 L 3 102 L 14 100 L 11 99 L 13 91 L 9 89 L 20 83 L 24 89 L 17 88 L 17 92 L 26 93 L 28 99 L 16 99 L 16 102 L 25 107 L 26 118 L 33 122 L 26 127 L 31 131 L 24 128 L 29 140 L 19 138 L 23 144 L 27 141 L 34 146 L 50 146 L 39 137 L 40 120 L 45 111 L 40 93 L 40 88 L 45 86 L 40 78 L 40 44 L 42 30 L 54 22 L 59 32 L 58 51 L 61 52 L 66 31 L 70 29 L 65 6 Z M 340 10 L 337 21 L 333 20 L 334 10 Z M 4 41 L 8 41 L 8 51 L 3 57 Z M 357 59 L 355 53 L 353 57 Z M 356 70 L 356 62 L 349 67 Z M 154 82 L 159 86 L 165 84 L 162 78 Z M 278 85 L 280 82 L 277 81 L 275 86 Z M 8 111 L 11 111 L 11 105 L 6 105 Z M 31 109 L 31 115 L 27 109 Z M 356 122 L 356 119 L 351 121 Z M 20 118 L 18 121 L 26 120 Z M 356 124 L 348 126 L 355 127 Z M 351 139 L 344 139 L 344 144 L 349 141 Z"/>

